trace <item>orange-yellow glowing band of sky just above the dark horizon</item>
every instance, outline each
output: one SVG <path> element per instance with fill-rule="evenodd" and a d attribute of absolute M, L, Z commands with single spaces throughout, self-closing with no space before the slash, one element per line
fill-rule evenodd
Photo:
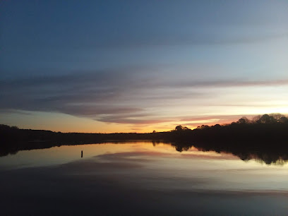
<path fill-rule="evenodd" d="M 215 124 L 230 124 L 238 121 L 242 116 L 251 119 L 256 114 L 248 115 L 210 115 L 196 117 L 175 117 L 173 119 L 155 121 L 153 124 L 120 124 L 105 123 L 88 118 L 71 116 L 68 114 L 29 112 L 29 114 L 6 114 L 1 124 L 18 126 L 18 128 L 61 131 L 63 133 L 152 133 L 152 131 L 171 131 L 178 125 L 194 129 L 197 126 Z M 13 121 L 11 121 L 11 119 Z M 11 122 L 9 122 L 11 121 Z M 152 122 L 152 121 L 151 121 Z"/>

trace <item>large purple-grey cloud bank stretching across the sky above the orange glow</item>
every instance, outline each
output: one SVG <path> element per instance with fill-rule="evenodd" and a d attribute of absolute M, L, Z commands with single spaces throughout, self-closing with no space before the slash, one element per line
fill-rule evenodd
<path fill-rule="evenodd" d="M 1 79 L 0 109 L 60 112 L 107 123 L 158 124 L 178 120 L 172 113 L 162 114 L 160 107 L 179 107 L 181 102 L 215 97 L 215 88 L 288 85 L 287 79 L 197 80 L 176 73 L 155 76 L 152 70 L 133 67 Z"/>

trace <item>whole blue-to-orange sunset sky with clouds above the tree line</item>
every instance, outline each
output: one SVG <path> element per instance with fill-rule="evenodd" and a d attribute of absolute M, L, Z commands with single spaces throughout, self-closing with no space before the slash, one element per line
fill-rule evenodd
<path fill-rule="evenodd" d="M 0 124 L 169 131 L 288 114 L 288 1 L 0 1 Z"/>

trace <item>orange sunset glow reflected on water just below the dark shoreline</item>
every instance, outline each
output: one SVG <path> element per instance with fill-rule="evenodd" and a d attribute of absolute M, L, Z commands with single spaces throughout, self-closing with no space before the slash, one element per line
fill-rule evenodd
<path fill-rule="evenodd" d="M 166 158 L 207 158 L 219 160 L 236 160 L 231 154 L 220 154 L 209 151 L 202 152 L 191 147 L 188 151 L 178 152 L 169 143 L 152 143 L 151 141 L 128 141 L 118 143 L 102 143 L 88 145 L 62 145 L 41 150 L 24 150 L 16 155 L 0 157 L 0 166 L 37 167 L 42 165 L 62 164 L 80 159 L 83 150 L 83 159 L 104 154 L 119 152 L 142 152 L 142 155 Z"/>

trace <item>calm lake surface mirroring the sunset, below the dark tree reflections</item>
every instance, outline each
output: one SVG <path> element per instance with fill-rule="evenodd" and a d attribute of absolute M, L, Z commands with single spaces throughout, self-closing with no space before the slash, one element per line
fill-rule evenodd
<path fill-rule="evenodd" d="M 83 157 L 81 158 L 81 150 Z M 0 215 L 287 215 L 288 165 L 149 141 L 0 157 Z"/>

